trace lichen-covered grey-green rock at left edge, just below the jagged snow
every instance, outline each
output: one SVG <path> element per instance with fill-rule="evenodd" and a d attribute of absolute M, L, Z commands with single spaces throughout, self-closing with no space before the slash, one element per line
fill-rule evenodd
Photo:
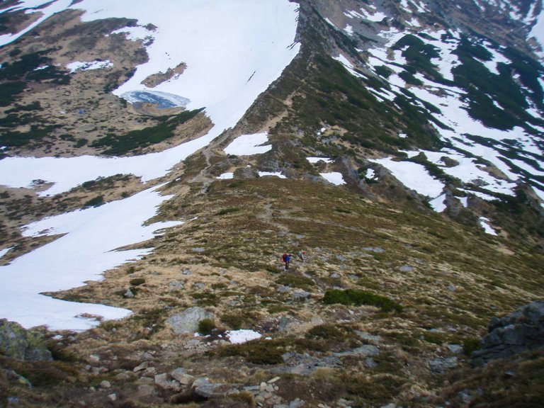
<path fill-rule="evenodd" d="M 0 319 L 0 351 L 5 356 L 27 361 L 50 361 L 42 334 L 26 330 L 21 324 Z"/>

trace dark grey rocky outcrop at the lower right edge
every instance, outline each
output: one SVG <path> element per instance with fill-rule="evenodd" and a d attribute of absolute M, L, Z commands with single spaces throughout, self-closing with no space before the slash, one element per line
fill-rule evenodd
<path fill-rule="evenodd" d="M 472 365 L 506 358 L 544 346 L 544 301 L 532 302 L 505 317 L 493 317 L 482 348 L 472 353 Z"/>

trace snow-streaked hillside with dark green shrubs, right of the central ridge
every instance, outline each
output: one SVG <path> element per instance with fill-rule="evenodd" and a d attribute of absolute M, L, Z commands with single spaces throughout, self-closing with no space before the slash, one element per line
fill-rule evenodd
<path fill-rule="evenodd" d="M 528 37 L 542 44 L 540 2 L 533 2 L 528 10 L 509 1 L 475 4 L 482 13 L 489 6 L 495 13 L 504 11 L 526 28 Z M 400 108 L 395 98 L 407 96 L 432 116 L 431 124 L 445 147 L 424 154 L 443 172 L 463 181 L 465 193 L 494 200 L 497 196 L 492 193 L 512 196 L 517 183 L 529 183 L 544 199 L 543 66 L 483 35 L 440 23 L 430 26 L 431 8 L 431 1 L 402 1 L 396 10 L 390 4 L 361 4 L 361 8 L 346 8 L 336 20 L 327 17 L 336 30 L 353 39 L 375 35 L 373 42 L 361 45 L 363 49 L 352 50 L 358 60 L 347 54 L 333 57 L 356 77 L 368 78 L 362 74 L 365 69 L 380 77 L 386 85 L 371 89 L 378 100 Z M 402 18 L 404 28 L 398 28 L 394 18 Z M 410 140 L 412 135 L 407 132 L 404 137 Z M 407 158 L 418 153 L 407 152 Z M 436 210 L 445 208 L 441 200 L 436 201 L 445 186 L 441 188 L 421 164 L 375 162 L 409 188 L 429 196 L 431 203 L 438 204 Z M 431 185 L 436 188 L 429 190 Z"/>

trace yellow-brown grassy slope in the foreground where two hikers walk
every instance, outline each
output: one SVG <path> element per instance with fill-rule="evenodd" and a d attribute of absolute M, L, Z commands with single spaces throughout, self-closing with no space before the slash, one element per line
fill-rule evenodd
<path fill-rule="evenodd" d="M 180 193 L 181 187 L 172 182 L 167 191 Z M 254 385 L 275 376 L 269 370 L 286 351 L 317 357 L 348 351 L 365 343 L 355 334 L 363 330 L 381 336 L 376 368 L 365 365 L 365 356 L 355 356 L 343 358 L 341 370 L 327 368 L 309 378 L 282 375 L 283 397 L 301 396 L 311 404 L 340 397 L 385 404 L 410 400 L 416 392 L 432 397 L 447 384 L 429 372 L 426 361 L 451 356 L 446 344 L 470 341 L 485 333 L 490 317 L 544 295 L 541 254 L 434 212 L 373 203 L 346 188 L 275 177 L 214 181 L 201 191 L 193 185 L 164 205 L 160 217 L 196 219 L 154 239 L 154 254 L 62 296 L 98 297 L 135 311 L 133 317 L 81 334 L 67 348 L 81 356 L 115 349 L 118 360 L 108 363 L 104 377 L 115 387 L 135 386 L 115 380 L 115 374 L 137 365 L 135 356 L 144 350 L 154 350 L 152 363 L 159 372 L 183 366 L 217 382 Z M 295 260 L 290 272 L 283 272 L 280 254 L 298 249 L 307 251 L 307 263 Z M 181 274 L 186 270 L 191 275 Z M 134 283 L 135 297 L 123 297 L 138 278 L 145 283 Z M 171 285 L 178 282 L 183 289 Z M 300 302 L 290 293 L 278 293 L 285 284 L 307 290 L 310 298 Z M 322 298 L 331 288 L 391 297 L 404 310 L 326 305 Z M 208 353 L 171 354 L 191 337 L 172 336 L 166 317 L 191 305 L 214 311 L 220 329 L 256 329 L 273 341 L 209 344 Z M 300 323 L 278 331 L 280 317 Z M 460 368 L 465 369 L 462 361 Z"/>

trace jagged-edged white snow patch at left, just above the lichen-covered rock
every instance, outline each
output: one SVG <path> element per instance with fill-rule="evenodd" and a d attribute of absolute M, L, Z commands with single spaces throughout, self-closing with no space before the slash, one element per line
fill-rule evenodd
<path fill-rule="evenodd" d="M 125 200 L 98 208 L 67 212 L 33 222 L 23 231 L 25 237 L 64 234 L 55 241 L 0 266 L 0 316 L 29 328 L 41 324 L 52 330 L 84 330 L 96 327 L 93 314 L 105 319 L 120 319 L 130 310 L 105 305 L 67 302 L 40 295 L 67 290 L 87 280 L 101 280 L 103 271 L 149 254 L 152 249 L 117 250 L 152 239 L 159 229 L 182 222 L 157 222 L 143 226 L 169 197 L 158 188 L 149 188 Z"/>

